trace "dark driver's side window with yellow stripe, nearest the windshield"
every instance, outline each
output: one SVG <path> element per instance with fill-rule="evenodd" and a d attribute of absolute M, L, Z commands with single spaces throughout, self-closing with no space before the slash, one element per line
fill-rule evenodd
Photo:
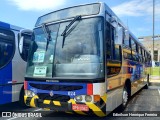
<path fill-rule="evenodd" d="M 121 47 L 115 43 L 115 28 L 109 24 L 106 27 L 106 62 L 109 77 L 119 74 L 121 70 Z"/>

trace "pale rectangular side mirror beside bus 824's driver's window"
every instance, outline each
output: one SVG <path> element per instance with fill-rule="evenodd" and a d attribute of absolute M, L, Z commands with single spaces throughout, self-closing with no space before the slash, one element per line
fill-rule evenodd
<path fill-rule="evenodd" d="M 116 28 L 116 40 L 115 44 L 121 45 L 123 41 L 123 28 L 122 27 L 117 27 Z"/>

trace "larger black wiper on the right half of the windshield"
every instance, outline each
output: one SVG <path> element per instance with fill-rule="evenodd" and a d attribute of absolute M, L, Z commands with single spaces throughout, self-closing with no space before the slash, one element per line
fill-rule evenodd
<path fill-rule="evenodd" d="M 69 25 L 66 26 L 66 28 L 64 29 L 63 33 L 61 34 L 61 36 L 63 36 L 63 42 L 62 42 L 62 48 L 64 46 L 64 42 L 65 42 L 65 38 L 67 36 L 67 31 L 69 30 L 69 28 L 73 25 L 73 23 L 75 23 L 75 21 L 77 20 L 81 20 L 81 15 L 76 16 L 70 23 Z M 72 29 L 73 30 L 73 29 Z M 71 32 L 71 31 L 70 31 Z"/>

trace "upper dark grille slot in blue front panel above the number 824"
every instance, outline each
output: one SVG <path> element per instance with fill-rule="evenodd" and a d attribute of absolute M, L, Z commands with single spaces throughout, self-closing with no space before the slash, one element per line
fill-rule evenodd
<path fill-rule="evenodd" d="M 29 84 L 31 87 L 41 90 L 53 90 L 53 91 L 72 91 L 82 89 L 83 86 L 71 86 L 71 85 L 48 85 L 48 84 Z"/>

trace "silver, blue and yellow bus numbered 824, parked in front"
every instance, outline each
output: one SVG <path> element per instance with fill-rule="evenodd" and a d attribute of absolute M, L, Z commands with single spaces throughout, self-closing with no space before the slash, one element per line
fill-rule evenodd
<path fill-rule="evenodd" d="M 105 3 L 40 16 L 32 41 L 27 106 L 106 116 L 148 85 L 150 53 Z"/>

